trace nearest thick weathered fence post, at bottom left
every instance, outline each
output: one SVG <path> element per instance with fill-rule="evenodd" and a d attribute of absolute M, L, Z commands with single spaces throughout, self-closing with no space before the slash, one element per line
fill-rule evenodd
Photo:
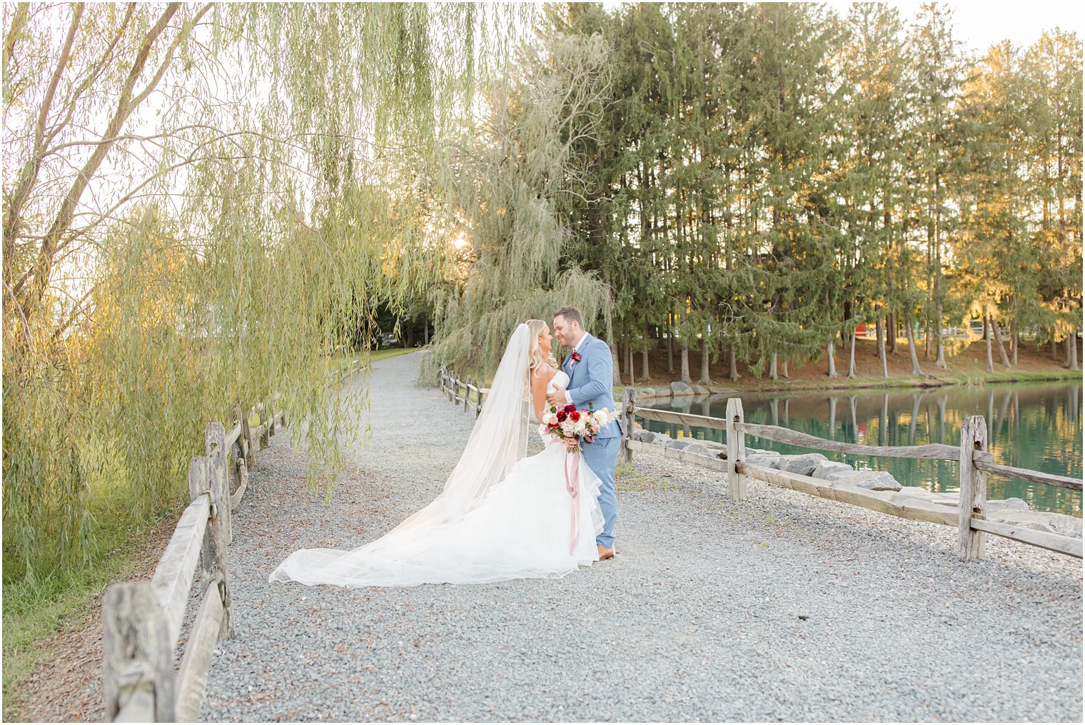
<path fill-rule="evenodd" d="M 105 590 L 102 685 L 110 722 L 176 721 L 174 652 L 150 582 L 122 582 Z"/>

